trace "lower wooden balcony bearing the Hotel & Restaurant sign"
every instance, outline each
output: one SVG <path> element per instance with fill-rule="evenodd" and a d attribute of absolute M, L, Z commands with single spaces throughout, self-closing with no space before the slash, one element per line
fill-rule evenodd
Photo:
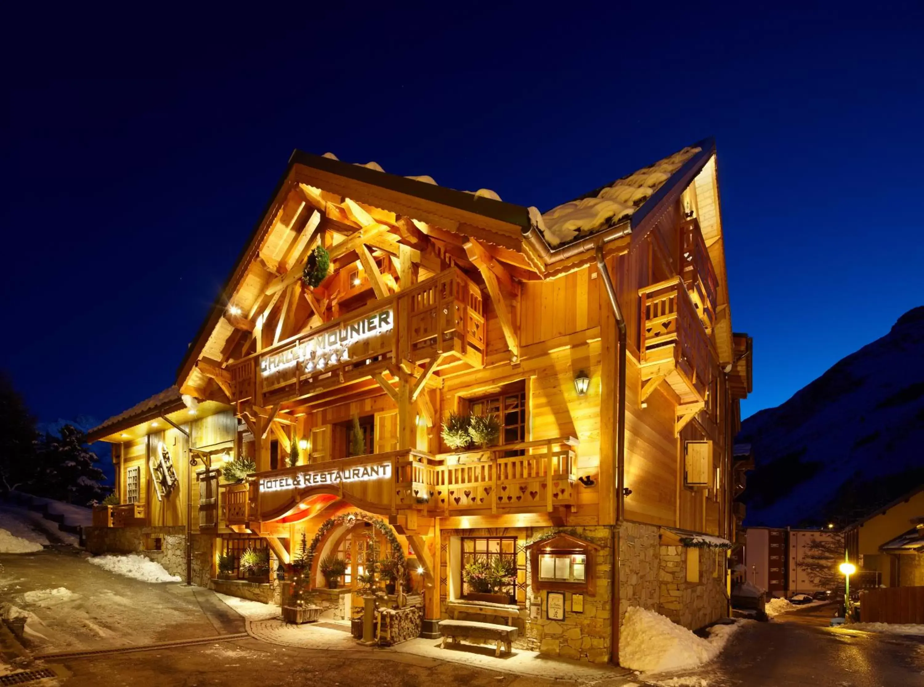
<path fill-rule="evenodd" d="M 406 448 L 257 472 L 221 486 L 222 521 L 251 530 L 257 522 L 295 521 L 311 514 L 312 497 L 340 497 L 383 515 L 552 511 L 575 504 L 576 448 L 576 438 L 563 436 L 439 456 Z"/>

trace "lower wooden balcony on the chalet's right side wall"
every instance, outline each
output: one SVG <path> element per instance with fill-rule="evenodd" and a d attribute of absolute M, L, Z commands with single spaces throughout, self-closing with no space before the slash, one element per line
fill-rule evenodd
<path fill-rule="evenodd" d="M 640 288 L 641 399 L 667 382 L 685 406 L 685 414 L 705 407 L 715 353 L 687 287 L 675 276 Z M 679 408 L 678 408 L 679 411 Z"/>

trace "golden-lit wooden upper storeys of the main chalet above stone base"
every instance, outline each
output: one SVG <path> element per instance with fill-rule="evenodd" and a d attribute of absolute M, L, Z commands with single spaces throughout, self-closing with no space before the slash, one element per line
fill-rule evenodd
<path fill-rule="evenodd" d="M 466 546 L 482 546 L 468 538 L 502 551 L 509 537 L 526 624 L 538 603 L 526 545 L 548 528 L 599 538 L 619 520 L 734 540 L 730 441 L 750 343 L 731 328 L 714 147 L 682 153 L 614 182 L 629 210 L 583 226 L 559 221 L 569 207 L 541 216 L 490 191 L 295 153 L 178 371 L 187 398 L 237 418 L 228 446 L 257 465 L 219 486 L 215 536 L 260 536 L 287 562 L 335 514 L 376 515 L 419 565 L 428 619 L 464 596 Z M 331 267 L 311 288 L 317 246 Z M 625 427 L 598 256 L 626 322 Z M 581 394 L 577 376 L 590 380 Z M 450 411 L 497 414 L 502 443 L 450 450 Z"/>

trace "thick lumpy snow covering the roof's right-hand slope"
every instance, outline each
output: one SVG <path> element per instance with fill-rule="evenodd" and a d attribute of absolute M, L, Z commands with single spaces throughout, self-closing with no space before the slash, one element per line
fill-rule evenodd
<path fill-rule="evenodd" d="M 596 195 L 553 207 L 541 215 L 551 246 L 595 234 L 629 219 L 664 182 L 701 149 L 687 147 L 653 165 L 618 178 Z"/>

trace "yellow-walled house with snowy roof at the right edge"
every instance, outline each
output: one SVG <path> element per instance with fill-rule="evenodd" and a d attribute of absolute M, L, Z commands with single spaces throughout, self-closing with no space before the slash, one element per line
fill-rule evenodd
<path fill-rule="evenodd" d="M 857 574 L 886 587 L 924 585 L 922 528 L 924 485 L 849 525 L 845 544 Z"/>

